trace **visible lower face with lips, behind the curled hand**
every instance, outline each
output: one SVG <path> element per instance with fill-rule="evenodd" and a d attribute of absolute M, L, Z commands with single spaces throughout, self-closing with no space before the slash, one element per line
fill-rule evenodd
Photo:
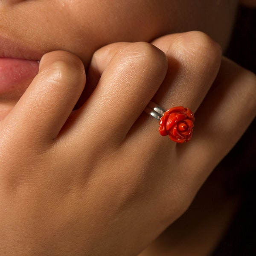
<path fill-rule="evenodd" d="M 0 117 L 26 90 L 46 52 L 73 52 L 87 67 L 93 52 L 106 44 L 188 30 L 204 31 L 226 47 L 236 6 L 236 0 L 3 0 Z"/>

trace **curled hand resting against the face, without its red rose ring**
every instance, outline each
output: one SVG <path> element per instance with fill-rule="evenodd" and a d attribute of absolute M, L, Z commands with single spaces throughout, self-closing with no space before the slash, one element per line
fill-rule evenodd
<path fill-rule="evenodd" d="M 96 88 L 76 111 L 81 61 L 44 55 L 0 123 L 2 255 L 138 254 L 187 209 L 247 128 L 253 74 L 223 59 L 208 92 L 221 63 L 217 44 L 199 32 L 153 44 L 99 49 L 85 85 Z M 143 112 L 152 98 L 195 113 L 191 142 L 160 136 Z"/>

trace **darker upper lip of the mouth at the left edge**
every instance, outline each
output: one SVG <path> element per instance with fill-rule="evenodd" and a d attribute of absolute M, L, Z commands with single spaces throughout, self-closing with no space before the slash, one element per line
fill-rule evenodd
<path fill-rule="evenodd" d="M 44 55 L 39 50 L 32 49 L 29 43 L 22 43 L 20 40 L 0 35 L 0 58 L 19 58 L 38 61 Z"/>

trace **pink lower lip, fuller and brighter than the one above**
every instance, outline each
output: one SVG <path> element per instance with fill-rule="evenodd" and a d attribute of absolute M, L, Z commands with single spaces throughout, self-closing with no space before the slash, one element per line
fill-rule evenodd
<path fill-rule="evenodd" d="M 0 58 L 0 95 L 25 90 L 32 79 L 37 75 L 38 61 L 30 61 L 15 58 Z"/>

